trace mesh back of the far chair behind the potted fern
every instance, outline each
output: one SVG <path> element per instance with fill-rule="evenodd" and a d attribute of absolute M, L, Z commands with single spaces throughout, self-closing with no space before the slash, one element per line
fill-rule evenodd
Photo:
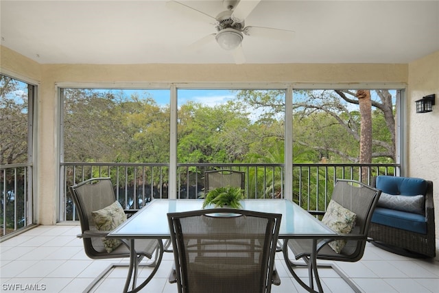
<path fill-rule="evenodd" d="M 204 173 L 205 185 L 207 191 L 217 187 L 239 187 L 244 190 L 245 172 L 232 170 L 215 170 Z"/>

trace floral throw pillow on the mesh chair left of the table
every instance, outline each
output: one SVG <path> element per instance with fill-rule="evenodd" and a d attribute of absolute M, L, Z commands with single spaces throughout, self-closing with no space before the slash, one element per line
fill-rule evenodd
<path fill-rule="evenodd" d="M 123 211 L 121 204 L 116 200 L 104 209 L 92 211 L 91 218 L 93 219 L 93 222 L 95 222 L 97 230 L 112 231 L 126 221 L 126 214 Z M 107 250 L 107 253 L 111 253 L 112 250 L 115 250 L 121 245 L 119 239 L 106 239 L 104 237 L 102 238 L 102 242 L 104 242 L 104 247 Z"/>

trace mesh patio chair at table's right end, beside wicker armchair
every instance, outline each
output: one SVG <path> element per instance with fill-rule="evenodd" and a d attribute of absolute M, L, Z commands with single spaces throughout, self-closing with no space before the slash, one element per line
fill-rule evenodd
<path fill-rule="evenodd" d="M 372 219 L 372 213 L 378 202 L 381 191 L 372 188 L 363 183 L 359 183 L 355 180 L 337 180 L 332 193 L 332 200 L 335 200 L 342 207 L 353 211 L 357 215 L 356 224 L 348 234 L 337 233 L 337 237 L 331 239 L 318 239 L 315 243 L 316 245 L 316 259 L 325 259 L 330 261 L 359 261 L 364 254 L 364 248 L 366 247 L 366 242 L 368 240 L 368 230 L 370 226 L 370 220 Z M 313 213 L 313 211 L 309 211 Z M 317 213 L 319 214 L 319 213 Z M 322 213 L 320 213 L 322 214 Z M 328 245 L 334 240 L 346 240 L 346 245 L 340 253 L 335 253 L 335 251 Z M 285 245 L 287 244 L 287 245 Z M 319 267 L 333 268 L 337 274 L 348 283 L 348 285 L 355 290 L 355 292 L 361 292 L 353 282 L 351 282 L 346 275 L 344 275 L 336 266 L 332 264 L 318 264 L 312 263 L 311 259 L 311 248 L 313 247 L 312 239 L 289 239 L 284 243 L 283 253 L 285 255 L 285 261 L 287 262 L 287 267 L 290 272 L 292 272 L 293 277 L 302 285 L 303 287 L 311 288 L 313 290 L 313 281 L 316 281 L 318 285 L 319 292 L 322 292 L 322 286 L 320 284 L 320 279 L 318 277 Z M 286 247 L 287 246 L 287 247 Z M 306 285 L 302 280 L 300 280 L 294 272 L 294 267 L 300 266 L 298 263 L 289 261 L 288 249 L 294 253 L 296 259 L 303 259 L 309 270 L 309 286 Z"/>

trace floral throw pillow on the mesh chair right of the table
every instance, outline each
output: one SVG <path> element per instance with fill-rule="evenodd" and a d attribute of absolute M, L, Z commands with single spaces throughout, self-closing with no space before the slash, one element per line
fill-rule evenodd
<path fill-rule="evenodd" d="M 338 233 L 351 233 L 357 220 L 357 214 L 342 207 L 340 204 L 331 200 L 328 204 L 327 212 L 324 213 L 322 223 L 329 226 Z M 340 253 L 346 245 L 346 240 L 335 240 L 328 244 L 335 251 Z"/>

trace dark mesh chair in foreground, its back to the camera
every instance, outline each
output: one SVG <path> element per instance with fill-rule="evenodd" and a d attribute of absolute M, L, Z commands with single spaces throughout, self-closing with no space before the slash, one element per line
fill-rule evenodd
<path fill-rule="evenodd" d="M 237 209 L 168 213 L 178 292 L 271 292 L 281 216 Z"/>

